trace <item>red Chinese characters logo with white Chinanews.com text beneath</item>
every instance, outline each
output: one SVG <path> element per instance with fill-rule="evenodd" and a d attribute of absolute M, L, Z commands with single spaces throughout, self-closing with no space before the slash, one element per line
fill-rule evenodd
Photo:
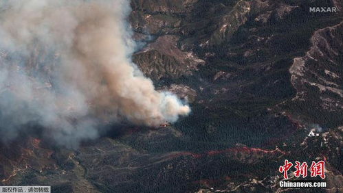
<path fill-rule="evenodd" d="M 294 166 L 296 169 L 295 172 L 291 172 L 289 174 L 289 170 Z M 298 178 L 306 178 L 306 177 L 320 177 L 321 179 L 325 179 L 325 162 L 319 161 L 314 162 L 312 161 L 311 166 L 306 162 L 295 162 L 295 165 L 289 162 L 287 159 L 283 166 L 278 168 L 278 171 L 283 173 L 283 179 L 280 181 L 279 185 L 281 188 L 318 188 L 327 187 L 327 182 L 325 181 L 298 181 Z M 288 179 L 294 179 L 294 181 L 289 181 Z"/>

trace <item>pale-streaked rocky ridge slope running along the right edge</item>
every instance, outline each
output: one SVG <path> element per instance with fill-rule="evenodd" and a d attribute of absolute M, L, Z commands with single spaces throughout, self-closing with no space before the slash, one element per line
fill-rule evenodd
<path fill-rule="evenodd" d="M 336 122 L 335 127 L 343 121 L 342 31 L 343 23 L 315 31 L 311 49 L 304 57 L 294 58 L 289 69 L 297 89 L 291 101 L 298 106 L 294 114 L 307 114 L 311 121 L 321 124 Z M 309 105 L 312 108 L 302 109 Z"/>

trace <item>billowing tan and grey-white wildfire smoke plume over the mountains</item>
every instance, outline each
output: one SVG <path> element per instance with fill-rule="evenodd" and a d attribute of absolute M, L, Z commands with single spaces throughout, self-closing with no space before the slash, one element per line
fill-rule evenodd
<path fill-rule="evenodd" d="M 99 125 L 156 126 L 190 112 L 157 92 L 131 55 L 127 0 L 0 1 L 0 135 L 25 125 L 67 146 Z"/>

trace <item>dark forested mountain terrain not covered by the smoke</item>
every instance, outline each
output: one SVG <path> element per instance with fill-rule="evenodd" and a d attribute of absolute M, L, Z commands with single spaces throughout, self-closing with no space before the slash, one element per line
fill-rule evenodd
<path fill-rule="evenodd" d="M 78 151 L 23 133 L 0 145 L 0 185 L 282 192 L 278 167 L 289 159 L 324 160 L 329 186 L 316 190 L 342 192 L 342 11 L 310 6 L 340 1 L 132 0 L 129 20 L 144 44 L 133 61 L 188 101 L 190 116 L 159 129 L 113 126 Z"/>

